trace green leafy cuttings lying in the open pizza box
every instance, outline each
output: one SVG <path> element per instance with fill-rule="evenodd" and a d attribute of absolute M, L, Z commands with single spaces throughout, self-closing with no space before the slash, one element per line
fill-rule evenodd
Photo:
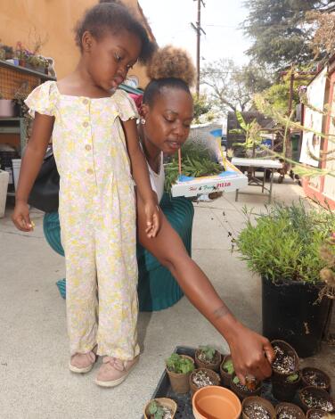
<path fill-rule="evenodd" d="M 217 175 L 224 168 L 213 161 L 209 152 L 199 144 L 184 144 L 182 148 L 182 173 L 188 177 Z M 170 192 L 171 186 L 179 177 L 178 157 L 173 156 L 165 168 L 165 190 Z"/>

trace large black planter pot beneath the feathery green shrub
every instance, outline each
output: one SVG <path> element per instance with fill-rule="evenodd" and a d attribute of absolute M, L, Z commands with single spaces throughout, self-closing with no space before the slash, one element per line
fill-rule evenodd
<path fill-rule="evenodd" d="M 270 341 L 287 341 L 299 357 L 315 355 L 331 312 L 330 299 L 315 304 L 319 291 L 298 281 L 276 285 L 262 278 L 263 334 Z"/>

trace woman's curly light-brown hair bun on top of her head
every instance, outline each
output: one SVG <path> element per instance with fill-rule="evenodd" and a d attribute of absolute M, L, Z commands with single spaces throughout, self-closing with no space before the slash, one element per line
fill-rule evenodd
<path fill-rule="evenodd" d="M 153 54 L 147 65 L 147 75 L 151 80 L 179 78 L 187 86 L 192 86 L 195 68 L 190 55 L 184 49 L 167 45 Z"/>

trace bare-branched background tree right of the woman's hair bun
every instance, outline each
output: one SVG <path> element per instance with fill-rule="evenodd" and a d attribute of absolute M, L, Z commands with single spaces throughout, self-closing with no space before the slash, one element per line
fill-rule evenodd
<path fill-rule="evenodd" d="M 245 111 L 255 93 L 270 86 L 266 71 L 256 65 L 238 66 L 222 58 L 208 63 L 200 73 L 200 83 L 221 111 Z"/>

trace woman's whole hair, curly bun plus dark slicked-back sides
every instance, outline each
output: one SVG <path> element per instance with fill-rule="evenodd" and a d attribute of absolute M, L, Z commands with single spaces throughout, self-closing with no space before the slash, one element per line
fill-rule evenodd
<path fill-rule="evenodd" d="M 195 69 L 186 51 L 167 45 L 153 53 L 147 65 L 147 76 L 151 81 L 144 90 L 143 103 L 151 106 L 164 87 L 182 89 L 191 94 Z"/>

